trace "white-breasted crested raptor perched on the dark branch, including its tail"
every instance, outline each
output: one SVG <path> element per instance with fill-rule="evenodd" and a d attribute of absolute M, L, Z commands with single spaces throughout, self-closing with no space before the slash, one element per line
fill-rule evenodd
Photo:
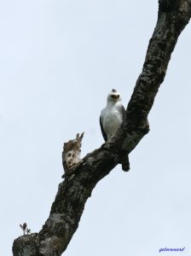
<path fill-rule="evenodd" d="M 101 110 L 100 125 L 102 136 L 107 141 L 118 131 L 125 118 L 125 109 L 121 103 L 121 95 L 118 90 L 112 90 L 107 96 L 107 106 Z M 122 163 L 124 171 L 130 170 L 128 156 Z"/>

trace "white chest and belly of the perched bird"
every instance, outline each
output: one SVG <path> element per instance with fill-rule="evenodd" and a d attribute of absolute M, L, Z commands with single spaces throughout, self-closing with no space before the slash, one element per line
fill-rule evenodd
<path fill-rule="evenodd" d="M 123 113 L 119 108 L 104 108 L 101 112 L 101 122 L 107 138 L 112 137 L 123 122 Z"/>

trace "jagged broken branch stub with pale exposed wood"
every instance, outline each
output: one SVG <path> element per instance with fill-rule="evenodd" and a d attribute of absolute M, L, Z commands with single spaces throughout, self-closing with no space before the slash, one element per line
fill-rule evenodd
<path fill-rule="evenodd" d="M 84 132 L 79 136 L 77 134 L 76 138 L 70 140 L 68 143 L 64 143 L 62 152 L 62 164 L 64 167 L 65 174 L 62 177 L 72 175 L 76 168 L 79 166 L 82 139 L 84 137 Z"/>

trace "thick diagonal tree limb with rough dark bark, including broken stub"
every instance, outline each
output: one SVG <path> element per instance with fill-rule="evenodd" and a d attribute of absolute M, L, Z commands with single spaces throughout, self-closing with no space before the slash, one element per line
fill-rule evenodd
<path fill-rule="evenodd" d="M 14 240 L 14 256 L 59 256 L 63 253 L 90 197 L 102 177 L 133 150 L 148 131 L 148 113 L 159 85 L 165 79 L 177 38 L 191 16 L 191 0 L 159 0 L 158 20 L 148 44 L 142 73 L 126 109 L 117 135 L 80 160 L 82 137 L 65 143 L 65 179 L 59 184 L 49 218 L 39 233 Z"/>

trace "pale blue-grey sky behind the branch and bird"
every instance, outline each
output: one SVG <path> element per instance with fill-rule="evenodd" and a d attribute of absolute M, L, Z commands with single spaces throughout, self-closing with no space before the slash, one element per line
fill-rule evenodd
<path fill-rule="evenodd" d="M 101 108 L 124 106 L 153 33 L 158 1 L 0 1 L 0 255 L 19 224 L 38 232 L 61 182 L 64 142 L 84 131 L 82 154 L 103 143 Z M 85 205 L 65 256 L 191 255 L 190 26 L 154 102 L 151 131 Z"/>

